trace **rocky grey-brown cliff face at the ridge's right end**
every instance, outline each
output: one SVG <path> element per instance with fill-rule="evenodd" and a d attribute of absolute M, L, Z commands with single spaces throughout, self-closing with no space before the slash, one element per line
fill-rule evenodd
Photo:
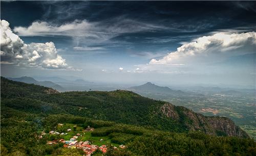
<path fill-rule="evenodd" d="M 209 135 L 227 135 L 248 138 L 248 135 L 234 122 L 226 117 L 206 117 L 184 107 L 165 103 L 160 107 L 164 116 L 179 121 L 189 131 L 201 131 Z"/>

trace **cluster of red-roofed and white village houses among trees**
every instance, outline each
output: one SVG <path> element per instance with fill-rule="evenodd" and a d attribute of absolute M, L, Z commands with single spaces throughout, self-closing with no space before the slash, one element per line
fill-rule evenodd
<path fill-rule="evenodd" d="M 62 123 L 58 124 L 59 127 L 63 126 Z M 76 125 L 74 125 L 74 128 L 76 129 Z M 65 148 L 74 148 L 74 149 L 82 149 L 84 151 L 84 154 L 86 154 L 86 156 L 91 156 L 91 154 L 93 152 L 95 152 L 96 150 L 100 150 L 102 153 L 105 153 L 108 150 L 107 145 L 102 144 L 102 145 L 96 145 L 96 144 L 92 144 L 89 140 L 86 141 L 82 141 L 82 140 L 78 140 L 78 137 L 82 137 L 83 135 L 80 133 L 77 133 L 76 135 L 74 135 L 72 138 L 70 139 L 63 139 L 65 137 L 63 136 L 67 136 L 68 133 L 72 132 L 71 128 L 68 128 L 67 133 L 59 133 L 57 131 L 50 131 L 49 132 L 49 136 L 50 135 L 58 135 L 60 136 L 61 139 L 55 139 L 52 141 L 47 141 L 48 145 L 54 145 L 54 144 L 58 144 L 58 143 L 63 143 L 63 147 Z M 94 128 L 88 126 L 86 129 L 83 130 L 83 134 L 85 134 L 84 132 L 91 132 L 94 131 Z M 44 131 L 41 133 L 41 135 L 39 136 L 39 138 L 42 138 L 42 136 L 47 135 L 47 133 L 45 133 Z M 99 139 L 99 142 L 103 142 L 103 139 Z M 119 148 L 125 148 L 125 145 L 119 145 Z M 118 147 L 114 146 L 114 149 L 118 150 Z"/>

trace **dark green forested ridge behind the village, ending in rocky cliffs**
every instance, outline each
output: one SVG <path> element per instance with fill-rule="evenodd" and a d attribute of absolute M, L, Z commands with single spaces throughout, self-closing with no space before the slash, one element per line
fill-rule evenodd
<path fill-rule="evenodd" d="M 1 106 L 34 114 L 71 114 L 170 132 L 248 135 L 225 117 L 205 117 L 184 107 L 142 97 L 131 91 L 63 92 L 1 77 Z"/>

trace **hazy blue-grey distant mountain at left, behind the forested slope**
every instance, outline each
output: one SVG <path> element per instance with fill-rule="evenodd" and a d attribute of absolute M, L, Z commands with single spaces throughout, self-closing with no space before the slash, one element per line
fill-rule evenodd
<path fill-rule="evenodd" d="M 22 77 L 17 77 L 17 78 L 12 78 L 8 77 L 7 79 L 12 80 L 12 81 L 17 81 L 17 82 L 23 82 L 27 84 L 35 84 L 35 85 L 40 85 L 40 86 L 45 86 L 45 87 L 50 87 L 59 91 L 64 90 L 63 87 L 61 87 L 58 84 L 55 84 L 51 81 L 36 81 L 33 77 L 28 77 L 28 76 L 22 76 Z"/>

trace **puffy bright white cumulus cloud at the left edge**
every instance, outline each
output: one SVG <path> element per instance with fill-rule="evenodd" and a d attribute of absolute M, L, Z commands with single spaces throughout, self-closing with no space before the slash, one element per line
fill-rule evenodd
<path fill-rule="evenodd" d="M 48 69 L 71 69 L 66 60 L 58 55 L 53 42 L 26 44 L 1 20 L 1 64 L 42 67 Z M 40 29 L 40 28 L 39 28 Z"/>

